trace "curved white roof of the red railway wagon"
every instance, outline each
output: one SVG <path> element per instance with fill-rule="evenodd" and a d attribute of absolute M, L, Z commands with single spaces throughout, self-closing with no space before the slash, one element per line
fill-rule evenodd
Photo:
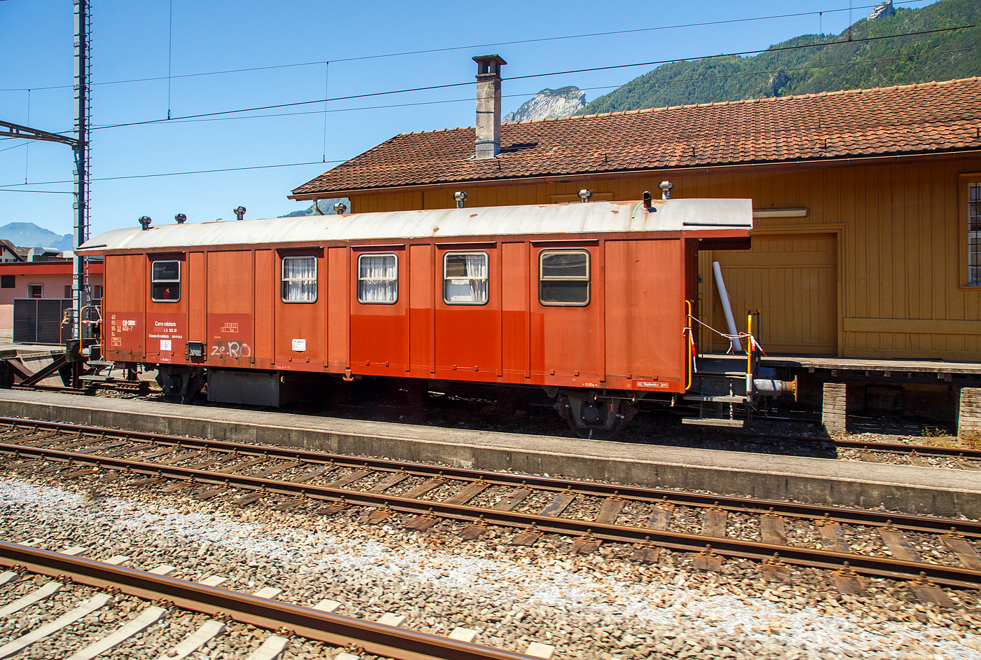
<path fill-rule="evenodd" d="M 209 245 L 449 238 L 622 231 L 706 231 L 752 228 L 749 199 L 531 204 L 484 208 L 388 211 L 114 229 L 90 238 L 79 252 L 168 250 Z"/>

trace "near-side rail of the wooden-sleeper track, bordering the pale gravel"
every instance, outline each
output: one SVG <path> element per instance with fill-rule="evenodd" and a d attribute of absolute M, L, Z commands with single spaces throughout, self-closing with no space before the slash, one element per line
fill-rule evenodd
<path fill-rule="evenodd" d="M 711 551 L 728 557 L 762 561 L 779 555 L 783 562 L 803 567 L 828 570 L 851 568 L 856 573 L 879 578 L 916 580 L 924 577 L 936 584 L 958 588 L 981 588 L 981 571 L 956 566 L 907 562 L 886 557 L 870 557 L 792 545 L 775 545 L 736 538 L 658 531 L 515 511 L 499 511 L 462 504 L 447 504 L 439 500 L 412 499 L 386 495 L 385 493 L 335 488 L 311 483 L 281 482 L 244 475 L 216 474 L 205 470 L 144 463 L 123 458 L 108 458 L 94 454 L 79 454 L 43 447 L 0 443 L 0 451 L 17 451 L 22 455 L 26 454 L 37 458 L 70 462 L 77 465 L 97 465 L 166 479 L 192 480 L 332 502 L 344 501 L 348 504 L 384 508 L 392 512 L 437 516 L 443 519 L 470 523 L 483 521 L 501 527 L 531 529 L 542 533 L 560 533 L 573 536 L 590 535 L 596 539 L 620 543 L 652 543 L 672 550 L 687 552 L 700 552 L 706 549 L 706 545 L 710 545 Z"/>

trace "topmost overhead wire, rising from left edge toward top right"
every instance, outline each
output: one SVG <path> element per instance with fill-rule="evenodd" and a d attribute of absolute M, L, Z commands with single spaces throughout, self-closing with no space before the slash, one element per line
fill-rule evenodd
<path fill-rule="evenodd" d="M 894 2 L 893 4 L 903 5 L 903 4 L 911 4 L 911 3 L 914 3 L 914 2 L 917 2 L 917 1 L 918 0 L 898 0 L 897 2 Z M 875 7 L 875 5 L 862 5 L 860 7 L 856 7 L 855 9 L 871 9 L 871 8 L 874 8 L 874 7 Z M 686 27 L 708 27 L 708 26 L 712 26 L 712 25 L 732 25 L 732 24 L 740 24 L 740 23 L 751 23 L 751 22 L 756 22 L 756 21 L 772 21 L 772 20 L 777 20 L 777 19 L 793 19 L 793 18 L 800 18 L 800 17 L 804 17 L 804 16 L 814 16 L 814 15 L 820 16 L 822 14 L 835 14 L 835 13 L 844 13 L 844 12 L 849 12 L 849 11 L 851 11 L 851 7 L 850 8 L 844 8 L 843 7 L 843 8 L 840 8 L 840 9 L 826 9 L 826 10 L 821 10 L 821 11 L 810 11 L 810 12 L 795 12 L 795 13 L 791 13 L 791 14 L 774 14 L 774 15 L 771 15 L 771 16 L 757 16 L 757 17 L 749 17 L 749 18 L 743 18 L 743 19 L 722 19 L 722 20 L 719 20 L 719 21 L 702 21 L 702 22 L 699 22 L 699 23 L 686 23 L 686 24 L 677 24 L 677 25 L 655 25 L 653 27 L 635 27 L 635 28 L 632 28 L 632 29 L 607 30 L 607 31 L 602 31 L 602 32 L 585 32 L 585 33 L 582 33 L 582 34 L 565 34 L 565 35 L 560 35 L 560 36 L 546 36 L 546 37 L 538 37 L 538 38 L 533 38 L 533 39 L 515 39 L 515 40 L 511 40 L 511 41 L 494 41 L 494 42 L 491 42 L 491 43 L 471 44 L 471 45 L 467 45 L 467 46 L 448 46 L 448 47 L 444 47 L 444 48 L 430 48 L 430 49 L 425 49 L 425 50 L 400 51 L 400 52 L 394 52 L 394 53 L 382 53 L 382 54 L 378 54 L 378 55 L 361 55 L 361 56 L 356 56 L 356 57 L 338 58 L 336 60 L 333 60 L 333 62 L 335 62 L 335 63 L 340 63 L 340 62 L 358 62 L 358 61 L 364 61 L 364 60 L 377 60 L 377 59 L 390 58 L 390 57 L 406 57 L 406 56 L 410 56 L 410 55 L 429 55 L 429 54 L 432 54 L 432 53 L 444 53 L 444 52 L 452 52 L 452 51 L 458 51 L 458 50 L 470 50 L 470 49 L 473 49 L 473 48 L 490 48 L 492 46 L 513 46 L 513 45 L 520 45 L 520 44 L 525 44 L 525 43 L 542 43 L 542 42 L 548 42 L 548 41 L 560 41 L 560 40 L 563 40 L 563 39 L 582 39 L 582 38 L 588 38 L 588 37 L 594 37 L 594 36 L 614 36 L 614 35 L 618 35 L 618 34 L 633 34 L 633 33 L 650 32 L 650 31 L 667 30 L 667 29 L 681 29 L 681 28 L 686 28 Z M 173 14 L 172 14 L 172 17 L 173 17 Z M 194 73 L 194 74 L 181 74 L 179 76 L 171 76 L 170 75 L 170 71 L 168 71 L 168 75 L 167 76 L 127 78 L 127 79 L 122 79 L 122 80 L 104 80 L 102 82 L 94 82 L 92 84 L 93 85 L 108 85 L 108 84 L 129 84 L 129 83 L 134 83 L 134 82 L 153 82 L 153 81 L 157 81 L 157 80 L 168 80 L 168 81 L 170 81 L 173 78 L 200 77 L 200 76 L 225 76 L 225 75 L 229 75 L 229 74 L 243 74 L 243 73 L 250 73 L 250 72 L 257 72 L 257 71 L 272 71 L 272 70 L 276 70 L 276 69 L 292 69 L 292 68 L 296 68 L 296 67 L 312 67 L 312 66 L 319 66 L 321 64 L 323 64 L 323 60 L 318 61 L 318 62 L 297 62 L 297 63 L 291 63 L 291 64 L 271 65 L 271 66 L 267 66 L 267 67 L 250 67 L 250 68 L 246 68 L 246 69 L 226 69 L 226 70 L 221 70 L 221 71 L 198 72 L 198 73 Z M 71 89 L 72 88 L 72 85 L 48 85 L 48 86 L 34 85 L 32 88 L 35 89 L 35 90 Z M 10 88 L 5 88 L 5 89 L 0 89 L 0 91 L 26 91 L 26 87 L 10 87 Z"/>

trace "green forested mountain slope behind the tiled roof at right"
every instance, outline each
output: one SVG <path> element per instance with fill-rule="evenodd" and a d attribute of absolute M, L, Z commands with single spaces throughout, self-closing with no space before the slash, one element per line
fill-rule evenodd
<path fill-rule="evenodd" d="M 577 114 L 981 76 L 981 27 L 910 34 L 979 21 L 977 0 L 940 0 L 920 9 L 885 2 L 841 34 L 802 34 L 752 57 L 662 65 L 596 98 Z M 910 35 L 858 40 L 893 34 Z M 811 47 L 781 50 L 794 46 Z"/>

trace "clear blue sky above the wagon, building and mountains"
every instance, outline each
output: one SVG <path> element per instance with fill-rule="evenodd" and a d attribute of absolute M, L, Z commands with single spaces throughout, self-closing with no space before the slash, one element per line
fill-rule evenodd
<path fill-rule="evenodd" d="M 489 52 L 507 60 L 503 69 L 506 78 L 759 49 L 817 32 L 819 25 L 826 33 L 836 33 L 849 22 L 848 0 L 91 2 L 92 117 L 97 127 L 163 120 L 168 110 L 172 117 L 181 118 L 468 82 L 476 71 L 470 58 Z M 874 2 L 853 0 L 852 4 L 852 20 L 857 21 L 868 14 L 866 6 Z M 927 4 L 930 2 L 897 3 L 904 7 Z M 817 16 L 819 11 L 823 16 Z M 0 62 L 4 63 L 0 68 L 0 119 L 52 131 L 72 127 L 72 12 L 71 0 L 0 0 Z M 637 31 L 804 12 L 813 14 Z M 618 30 L 635 31 L 501 43 Z M 371 57 L 444 48 L 456 49 Z M 325 65 L 325 61 L 331 64 Z M 303 63 L 316 64 L 284 66 Z M 258 67 L 280 68 L 188 76 Z M 517 109 L 544 87 L 574 84 L 586 89 L 587 99 L 592 100 L 649 69 L 505 80 L 504 113 Z M 169 71 L 170 80 L 166 79 Z M 164 79 L 116 82 L 161 77 Z M 135 227 L 136 219 L 143 215 L 163 224 L 174 222 L 179 212 L 185 213 L 189 222 L 230 220 L 234 218 L 232 208 L 239 204 L 248 208 L 246 217 L 251 218 L 306 208 L 308 203 L 288 200 L 286 195 L 333 167 L 331 161 L 344 161 L 403 131 L 473 126 L 473 94 L 474 87 L 467 85 L 223 116 L 238 118 L 233 120 L 173 119 L 94 130 L 91 163 L 95 179 L 313 164 L 94 180 L 93 235 Z M 419 105 L 378 107 L 394 104 Z M 282 116 L 285 113 L 304 114 Z M 25 190 L 71 190 L 71 183 L 48 181 L 71 180 L 72 170 L 69 147 L 0 139 L 0 226 L 31 222 L 58 233 L 70 232 L 72 195 Z"/>

